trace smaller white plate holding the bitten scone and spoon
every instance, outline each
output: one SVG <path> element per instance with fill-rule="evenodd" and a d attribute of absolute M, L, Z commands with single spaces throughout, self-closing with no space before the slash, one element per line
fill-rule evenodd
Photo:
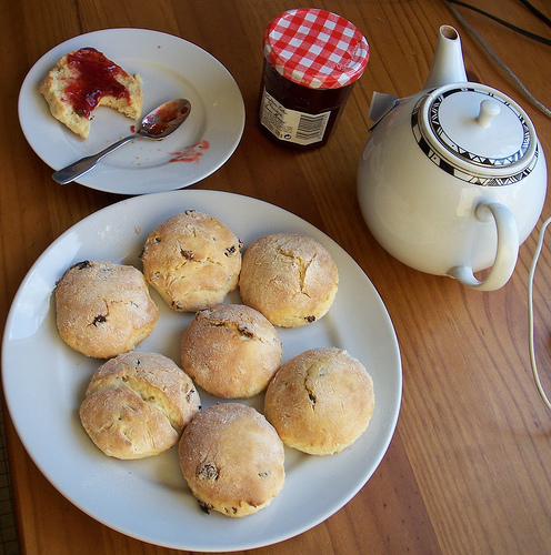
<path fill-rule="evenodd" d="M 143 115 L 167 100 L 187 98 L 191 114 L 162 141 L 139 140 L 106 157 L 78 181 L 92 189 L 142 194 L 180 189 L 218 170 L 233 153 L 244 125 L 241 92 L 211 54 L 178 37 L 144 29 L 107 29 L 70 39 L 42 56 L 19 94 L 19 121 L 34 152 L 59 170 L 132 132 L 132 122 L 106 107 L 94 110 L 83 141 L 56 120 L 38 85 L 63 54 L 93 47 L 143 83 Z"/>

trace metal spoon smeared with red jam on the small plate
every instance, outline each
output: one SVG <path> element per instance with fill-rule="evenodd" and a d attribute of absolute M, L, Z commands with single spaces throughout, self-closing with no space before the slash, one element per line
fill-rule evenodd
<path fill-rule="evenodd" d="M 124 137 L 97 154 L 82 158 L 67 168 L 58 170 L 53 173 L 52 178 L 62 185 L 71 183 L 71 181 L 89 172 L 104 155 L 133 139 L 160 140 L 168 137 L 187 120 L 190 112 L 191 104 L 186 99 L 176 99 L 164 102 L 164 104 L 156 108 L 141 120 L 140 128 L 136 133 Z"/>

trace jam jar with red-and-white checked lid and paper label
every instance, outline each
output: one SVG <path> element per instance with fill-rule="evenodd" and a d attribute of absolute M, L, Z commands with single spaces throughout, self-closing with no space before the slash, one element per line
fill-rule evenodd
<path fill-rule="evenodd" d="M 261 129 L 295 149 L 324 145 L 368 59 L 365 38 L 335 13 L 298 9 L 278 16 L 264 31 Z"/>

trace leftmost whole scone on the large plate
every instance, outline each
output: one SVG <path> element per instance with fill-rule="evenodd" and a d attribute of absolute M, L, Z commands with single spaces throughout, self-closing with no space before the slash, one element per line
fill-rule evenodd
<path fill-rule="evenodd" d="M 96 359 L 132 351 L 159 319 L 143 274 L 129 265 L 79 262 L 58 281 L 54 295 L 61 339 Z"/>

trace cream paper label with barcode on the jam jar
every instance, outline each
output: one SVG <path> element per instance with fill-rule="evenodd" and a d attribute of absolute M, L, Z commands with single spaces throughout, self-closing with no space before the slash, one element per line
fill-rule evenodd
<path fill-rule="evenodd" d="M 323 140 L 331 112 L 305 113 L 289 110 L 269 92 L 263 91 L 260 123 L 278 139 L 297 144 L 313 144 Z"/>

